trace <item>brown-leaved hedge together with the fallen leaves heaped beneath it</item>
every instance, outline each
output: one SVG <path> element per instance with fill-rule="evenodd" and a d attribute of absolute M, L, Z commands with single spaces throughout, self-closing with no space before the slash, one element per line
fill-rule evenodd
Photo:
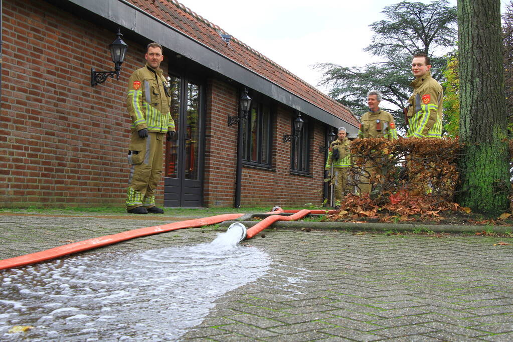
<path fill-rule="evenodd" d="M 441 211 L 461 210 L 454 203 L 459 178 L 458 159 L 463 148 L 454 138 L 386 140 L 357 139 L 351 142 L 349 169 L 352 193 L 370 179 L 370 194 L 347 195 L 330 220 L 380 218 L 383 222 L 437 220 Z M 509 141 L 513 159 L 513 140 Z M 509 214 L 507 214 L 509 215 Z M 501 219 L 502 216 L 501 216 Z"/>

